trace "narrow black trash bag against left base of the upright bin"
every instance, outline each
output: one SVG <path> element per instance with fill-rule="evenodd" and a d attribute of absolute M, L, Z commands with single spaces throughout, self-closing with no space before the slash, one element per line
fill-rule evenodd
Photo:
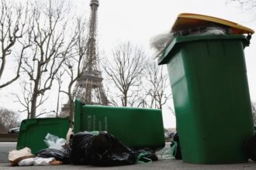
<path fill-rule="evenodd" d="M 182 150 L 179 143 L 178 131 L 171 138 L 171 155 L 175 157 L 175 159 L 182 159 Z"/>

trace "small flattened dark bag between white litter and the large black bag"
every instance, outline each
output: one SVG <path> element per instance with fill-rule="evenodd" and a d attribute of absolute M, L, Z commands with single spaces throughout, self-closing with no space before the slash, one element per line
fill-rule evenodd
<path fill-rule="evenodd" d="M 54 148 L 46 148 L 38 151 L 36 154 L 40 158 L 55 158 L 57 161 L 63 162 L 63 164 L 69 164 L 69 151 L 60 151 Z"/>

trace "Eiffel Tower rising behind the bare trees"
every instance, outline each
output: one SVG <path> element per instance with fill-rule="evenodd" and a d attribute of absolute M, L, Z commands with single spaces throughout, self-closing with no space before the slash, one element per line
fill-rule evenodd
<path fill-rule="evenodd" d="M 99 0 L 91 0 L 90 6 L 87 52 L 83 61 L 83 64 L 88 65 L 77 80 L 72 95 L 74 99 L 81 99 L 85 104 L 108 105 L 109 101 L 102 84 L 102 73 L 99 70 L 99 53 L 96 42 Z M 61 115 L 68 115 L 69 110 L 69 104 L 64 104 Z"/>

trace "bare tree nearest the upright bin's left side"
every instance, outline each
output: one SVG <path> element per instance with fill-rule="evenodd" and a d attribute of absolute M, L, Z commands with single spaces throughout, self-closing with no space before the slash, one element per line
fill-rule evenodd
<path fill-rule="evenodd" d="M 163 66 L 157 66 L 157 63 L 147 64 L 147 80 L 144 83 L 146 95 L 141 100 L 140 105 L 143 107 L 162 109 L 171 93 L 167 92 L 169 87 L 168 75 L 164 73 Z"/>

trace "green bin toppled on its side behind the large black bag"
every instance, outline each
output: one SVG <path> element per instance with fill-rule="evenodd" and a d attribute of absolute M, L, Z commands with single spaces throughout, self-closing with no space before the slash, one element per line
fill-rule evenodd
<path fill-rule="evenodd" d="M 161 110 L 81 104 L 75 100 L 74 133 L 109 131 L 131 148 L 163 148 Z"/>

